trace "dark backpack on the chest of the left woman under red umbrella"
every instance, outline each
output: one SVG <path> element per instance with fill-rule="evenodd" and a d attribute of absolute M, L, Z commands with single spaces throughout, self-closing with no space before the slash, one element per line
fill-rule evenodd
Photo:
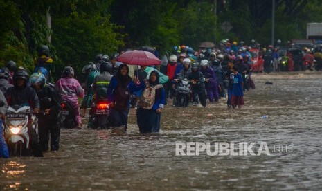
<path fill-rule="evenodd" d="M 127 82 L 127 85 L 129 82 Z M 118 86 L 116 87 L 115 93 L 114 93 L 114 100 L 115 100 L 115 109 L 118 109 L 119 111 L 124 111 L 129 108 L 129 88 L 122 86 L 122 84 L 118 80 Z"/>

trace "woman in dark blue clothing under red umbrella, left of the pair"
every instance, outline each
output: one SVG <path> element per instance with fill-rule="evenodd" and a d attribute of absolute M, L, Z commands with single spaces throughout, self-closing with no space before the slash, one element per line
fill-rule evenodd
<path fill-rule="evenodd" d="M 111 78 L 107 87 L 109 100 L 111 127 L 123 126 L 127 129 L 127 116 L 129 114 L 129 96 L 136 91 L 136 87 L 129 77 L 129 66 L 120 64 L 118 73 Z"/>

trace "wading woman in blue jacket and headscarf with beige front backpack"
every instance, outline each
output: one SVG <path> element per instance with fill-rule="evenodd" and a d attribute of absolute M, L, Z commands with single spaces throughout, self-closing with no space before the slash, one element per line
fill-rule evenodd
<path fill-rule="evenodd" d="M 140 133 L 159 133 L 161 112 L 166 103 L 166 91 L 159 82 L 159 73 L 152 71 L 149 80 L 141 81 L 143 89 L 136 117 Z"/>

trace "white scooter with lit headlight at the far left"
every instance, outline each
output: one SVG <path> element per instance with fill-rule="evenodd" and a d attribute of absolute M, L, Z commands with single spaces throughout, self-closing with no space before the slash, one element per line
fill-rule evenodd
<path fill-rule="evenodd" d="M 37 118 L 30 106 L 12 106 L 8 108 L 3 123 L 4 137 L 9 149 L 9 156 L 30 156 L 30 125 L 38 135 Z"/>

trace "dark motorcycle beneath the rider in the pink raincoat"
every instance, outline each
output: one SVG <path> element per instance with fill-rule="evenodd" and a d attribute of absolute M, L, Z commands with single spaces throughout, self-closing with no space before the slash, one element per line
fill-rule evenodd
<path fill-rule="evenodd" d="M 72 129 L 77 125 L 73 107 L 71 107 L 71 104 L 66 100 L 62 101 L 62 109 L 60 111 L 59 122 L 60 127 L 64 129 Z"/>

